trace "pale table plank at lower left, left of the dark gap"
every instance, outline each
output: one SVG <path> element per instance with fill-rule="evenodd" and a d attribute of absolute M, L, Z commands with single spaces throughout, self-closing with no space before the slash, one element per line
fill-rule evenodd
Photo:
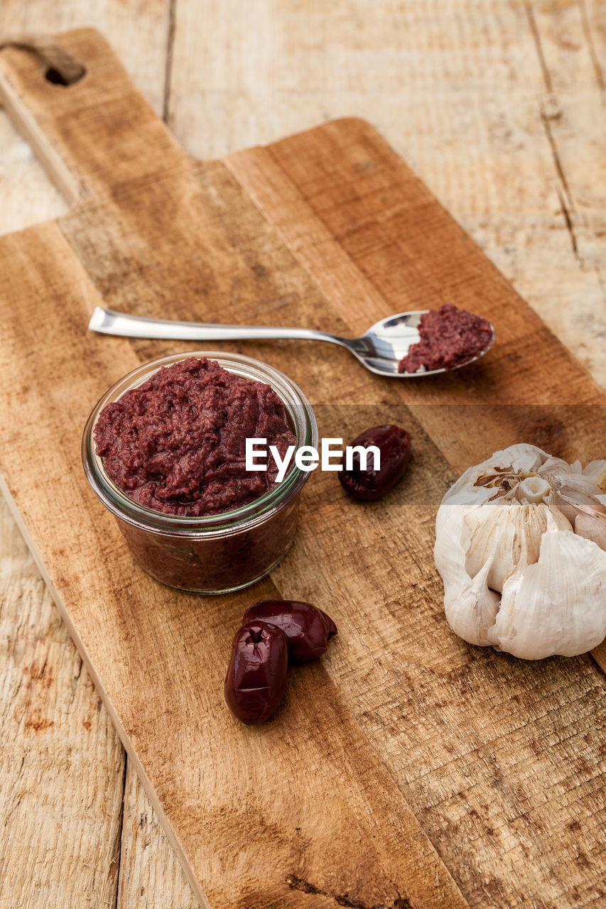
<path fill-rule="evenodd" d="M 0 906 L 114 906 L 122 746 L 4 502 L 0 520 Z"/>

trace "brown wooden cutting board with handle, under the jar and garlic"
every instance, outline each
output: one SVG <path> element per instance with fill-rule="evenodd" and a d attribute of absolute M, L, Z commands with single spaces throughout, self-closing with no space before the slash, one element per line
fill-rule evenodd
<path fill-rule="evenodd" d="M 222 161 L 192 160 L 91 30 L 54 85 L 6 50 L 0 97 L 71 212 L 0 239 L 5 491 L 200 902 L 269 909 L 581 906 L 606 895 L 601 648 L 523 663 L 449 630 L 433 566 L 441 495 L 514 442 L 604 454 L 606 396 L 373 128 L 340 120 Z M 204 99 L 200 99 L 204 104 Z M 97 398 L 200 345 L 87 332 L 103 302 L 138 315 L 356 335 L 451 301 L 497 344 L 428 380 L 370 375 L 328 345 L 213 345 L 278 366 L 320 435 L 409 429 L 384 500 L 312 474 L 287 558 L 241 594 L 197 597 L 133 564 L 86 484 Z M 245 727 L 222 683 L 247 604 L 308 599 L 339 634 Z"/>

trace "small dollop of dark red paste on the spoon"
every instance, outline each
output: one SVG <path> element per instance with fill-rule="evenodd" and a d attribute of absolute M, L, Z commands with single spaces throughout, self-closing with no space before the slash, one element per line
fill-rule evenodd
<path fill-rule="evenodd" d="M 492 326 L 481 315 L 473 315 L 445 303 L 430 309 L 419 321 L 420 341 L 399 361 L 399 373 L 450 369 L 482 354 L 492 341 Z"/>

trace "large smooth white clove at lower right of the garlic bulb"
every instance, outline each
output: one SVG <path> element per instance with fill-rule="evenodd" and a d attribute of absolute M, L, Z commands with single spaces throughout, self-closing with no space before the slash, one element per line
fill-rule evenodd
<path fill-rule="evenodd" d="M 525 660 L 584 654 L 606 634 L 606 553 L 569 530 L 543 534 L 536 564 L 503 584 L 490 644 Z"/>

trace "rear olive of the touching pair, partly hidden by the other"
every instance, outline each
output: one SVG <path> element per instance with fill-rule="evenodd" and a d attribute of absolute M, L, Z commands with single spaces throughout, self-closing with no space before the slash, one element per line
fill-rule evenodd
<path fill-rule="evenodd" d="M 244 615 L 245 622 L 259 619 L 278 625 L 286 634 L 292 663 L 307 663 L 326 653 L 328 641 L 337 634 L 329 615 L 299 600 L 262 600 Z"/>

